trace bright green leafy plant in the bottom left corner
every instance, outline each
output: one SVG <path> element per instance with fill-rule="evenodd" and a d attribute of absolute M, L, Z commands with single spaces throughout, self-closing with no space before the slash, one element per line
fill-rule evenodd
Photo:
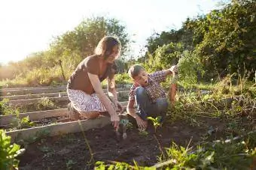
<path fill-rule="evenodd" d="M 17 169 L 19 160 L 16 157 L 25 151 L 20 145 L 11 145 L 11 136 L 0 130 L 0 169 Z"/>

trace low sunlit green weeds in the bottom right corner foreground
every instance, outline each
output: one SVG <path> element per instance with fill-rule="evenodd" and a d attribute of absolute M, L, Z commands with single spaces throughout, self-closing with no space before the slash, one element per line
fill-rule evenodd
<path fill-rule="evenodd" d="M 249 139 L 251 140 L 251 139 Z M 255 143 L 254 143 L 255 145 Z M 161 169 L 248 169 L 256 156 L 254 146 L 243 140 L 227 143 L 207 142 L 192 147 L 179 147 L 174 142 L 166 148 L 166 157 L 158 157 Z"/>

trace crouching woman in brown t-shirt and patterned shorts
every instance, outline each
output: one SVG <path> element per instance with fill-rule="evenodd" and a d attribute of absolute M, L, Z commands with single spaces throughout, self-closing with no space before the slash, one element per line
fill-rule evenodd
<path fill-rule="evenodd" d="M 95 54 L 88 56 L 76 68 L 69 78 L 67 93 L 69 114 L 72 120 L 80 117 L 97 118 L 108 112 L 115 129 L 120 118 L 117 112 L 123 109 L 117 100 L 114 73 L 117 70 L 114 61 L 120 55 L 121 44 L 117 37 L 106 36 L 99 41 Z M 108 95 L 104 94 L 101 82 L 108 79 Z"/>

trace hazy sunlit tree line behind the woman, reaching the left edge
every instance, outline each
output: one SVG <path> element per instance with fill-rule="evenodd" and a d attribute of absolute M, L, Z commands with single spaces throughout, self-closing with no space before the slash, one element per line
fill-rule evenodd
<path fill-rule="evenodd" d="M 73 30 L 54 38 L 47 51 L 35 52 L 23 61 L 0 67 L 0 79 L 23 79 L 27 85 L 50 85 L 62 81 L 62 70 L 66 79 L 78 63 L 89 55 L 105 35 L 117 36 L 122 44 L 121 58 L 129 52 L 130 39 L 126 27 L 117 19 L 103 16 L 84 19 Z M 123 61 L 118 61 L 122 72 Z M 45 75 L 42 75 L 45 73 Z"/>

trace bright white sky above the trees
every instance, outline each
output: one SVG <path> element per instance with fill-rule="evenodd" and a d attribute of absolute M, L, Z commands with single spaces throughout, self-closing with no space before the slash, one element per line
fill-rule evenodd
<path fill-rule="evenodd" d="M 209 13 L 217 0 L 5 0 L 0 1 L 0 64 L 20 61 L 49 48 L 54 37 L 73 30 L 83 19 L 119 19 L 139 55 L 154 32 L 181 28 L 187 17 Z"/>

